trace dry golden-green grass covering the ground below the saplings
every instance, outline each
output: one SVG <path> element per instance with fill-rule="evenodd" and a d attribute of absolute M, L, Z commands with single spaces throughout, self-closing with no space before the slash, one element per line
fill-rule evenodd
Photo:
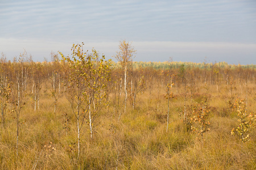
<path fill-rule="evenodd" d="M 98 114 L 93 139 L 88 125 L 82 127 L 79 159 L 76 119 L 68 101 L 61 97 L 54 113 L 50 91 L 42 93 L 39 111 L 34 112 L 30 100 L 20 114 L 18 159 L 16 122 L 14 115 L 7 115 L 5 128 L 0 129 L 0 169 L 256 169 L 256 131 L 251 133 L 251 141 L 243 144 L 238 136 L 230 134 L 238 122 L 236 110 L 228 108 L 224 99 L 225 85 L 218 91 L 216 86 L 209 86 L 207 92 L 199 88 L 187 100 L 189 108 L 191 103 L 208 97 L 210 131 L 204 134 L 203 143 L 181 121 L 184 102 L 176 87 L 177 99 L 171 100 L 166 132 L 165 87 L 160 86 L 159 105 L 156 87 L 151 95 L 149 91 L 138 95 L 134 110 L 128 104 L 119 122 L 119 113 L 114 113 L 113 98 L 110 99 L 110 107 Z M 236 97 L 245 97 L 239 86 Z M 255 90 L 247 97 L 248 111 L 255 112 Z M 69 118 L 68 130 L 64 113 Z"/>

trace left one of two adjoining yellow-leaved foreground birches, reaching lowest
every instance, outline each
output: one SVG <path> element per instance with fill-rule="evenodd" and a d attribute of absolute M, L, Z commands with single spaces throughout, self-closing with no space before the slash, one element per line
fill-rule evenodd
<path fill-rule="evenodd" d="M 84 45 L 82 43 L 82 45 Z M 69 73 L 67 75 L 66 85 L 67 92 L 66 97 L 71 104 L 72 112 L 74 113 L 77 121 L 77 158 L 80 155 L 80 130 L 85 118 L 85 96 L 83 95 L 85 86 L 85 77 L 83 69 L 83 61 L 85 61 L 85 54 L 82 50 L 82 45 L 72 46 L 72 58 L 65 57 L 61 52 L 60 55 L 63 58 L 63 62 L 67 61 L 69 66 Z M 52 95 L 55 95 L 56 91 L 52 91 Z M 56 100 L 55 100 L 56 101 Z"/>

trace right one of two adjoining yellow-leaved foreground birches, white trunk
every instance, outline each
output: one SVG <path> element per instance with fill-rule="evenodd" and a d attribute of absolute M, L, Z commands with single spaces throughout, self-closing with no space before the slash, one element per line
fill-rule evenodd
<path fill-rule="evenodd" d="M 99 109 L 106 106 L 106 92 L 110 81 L 110 60 L 105 61 L 105 56 L 100 58 L 96 50 L 92 50 L 86 59 L 86 91 L 84 93 L 89 113 L 90 138 L 93 138 L 94 121 Z"/>

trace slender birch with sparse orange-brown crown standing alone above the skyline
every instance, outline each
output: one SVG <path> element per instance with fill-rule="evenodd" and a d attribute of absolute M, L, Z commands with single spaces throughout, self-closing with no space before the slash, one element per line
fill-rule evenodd
<path fill-rule="evenodd" d="M 120 62 L 123 72 L 124 72 L 124 80 L 123 80 L 123 86 L 125 89 L 125 110 L 126 112 L 126 104 L 127 104 L 127 70 L 129 66 L 131 66 L 131 63 L 133 62 L 133 55 L 136 53 L 136 50 L 134 50 L 134 47 L 131 46 L 129 42 L 126 42 L 125 40 L 119 42 L 119 51 L 115 55 L 115 58 Z M 118 121 L 121 117 L 121 112 L 118 117 Z"/>

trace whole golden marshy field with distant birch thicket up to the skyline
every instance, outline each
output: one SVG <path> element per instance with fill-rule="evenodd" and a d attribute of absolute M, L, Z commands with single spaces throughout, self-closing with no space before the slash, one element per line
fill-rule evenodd
<path fill-rule="evenodd" d="M 0 169 L 256 169 L 255 125 L 249 141 L 231 134 L 240 125 L 238 98 L 256 113 L 255 66 L 168 65 L 128 69 L 126 111 L 123 70 L 112 69 L 102 100 L 90 105 L 92 129 L 81 105 L 78 146 L 63 62 L 2 61 Z M 206 107 L 209 125 L 198 135 L 193 111 Z"/>

